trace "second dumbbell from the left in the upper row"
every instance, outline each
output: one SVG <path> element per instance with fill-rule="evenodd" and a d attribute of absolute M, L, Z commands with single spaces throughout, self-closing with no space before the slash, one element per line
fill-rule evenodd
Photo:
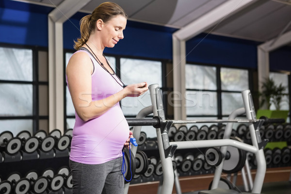
<path fill-rule="evenodd" d="M 37 150 L 39 146 L 39 140 L 37 139 L 37 137 L 31 136 L 31 133 L 29 131 L 20 131 L 17 134 L 17 137 L 22 140 L 22 149 L 26 153 L 31 154 Z"/>

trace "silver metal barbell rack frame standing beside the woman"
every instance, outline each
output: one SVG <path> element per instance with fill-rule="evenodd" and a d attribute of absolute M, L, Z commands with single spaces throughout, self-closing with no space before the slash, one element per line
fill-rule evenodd
<path fill-rule="evenodd" d="M 157 84 L 153 84 L 149 86 L 150 97 L 152 106 L 148 106 L 141 110 L 138 115 L 136 116 L 137 119 L 145 118 L 150 113 L 153 113 L 154 116 L 159 116 L 162 120 L 165 120 L 164 111 L 162 107 L 162 96 L 160 88 Z M 249 90 L 245 90 L 242 92 L 242 98 L 244 102 L 244 108 L 238 109 L 234 111 L 230 116 L 229 120 L 236 118 L 239 115 L 246 114 L 247 119 L 249 120 L 257 120 L 255 115 L 255 109 L 252 101 L 252 97 Z M 222 154 L 226 154 L 226 147 L 233 146 L 242 150 L 246 150 L 247 152 L 253 153 L 256 156 L 258 162 L 257 174 L 254 179 L 254 184 L 252 188 L 253 193 L 260 193 L 262 184 L 265 177 L 266 172 L 266 162 L 264 158 L 263 147 L 265 146 L 265 142 L 261 140 L 259 128 L 261 123 L 254 123 L 249 124 L 250 135 L 251 135 L 251 143 L 252 145 L 248 145 L 242 142 L 238 142 L 235 140 L 229 139 L 232 123 L 229 122 L 226 125 L 226 130 L 224 134 L 224 139 L 222 140 L 203 140 L 203 141 L 187 141 L 187 142 L 169 142 L 169 137 L 167 134 L 167 130 L 170 128 L 171 123 L 166 124 L 163 126 L 163 129 L 157 128 L 157 143 L 158 149 L 161 157 L 162 162 L 162 171 L 163 171 L 163 178 L 160 181 L 160 186 L 158 188 L 158 194 L 171 194 L 173 185 L 175 182 L 176 190 L 180 190 L 177 171 L 173 170 L 172 166 L 172 156 L 177 149 L 193 149 L 193 148 L 205 148 L 205 147 L 222 147 Z M 139 138 L 141 131 L 141 126 L 134 126 L 133 128 L 133 136 L 137 139 Z M 132 148 L 132 152 L 135 154 L 137 147 Z M 216 168 L 214 173 L 214 178 L 212 181 L 211 189 L 218 187 L 218 182 L 221 178 L 222 174 L 222 166 L 223 162 Z M 176 177 L 175 177 L 175 176 Z M 128 193 L 129 184 L 125 186 L 125 194 Z M 177 191 L 178 193 L 180 191 Z"/>

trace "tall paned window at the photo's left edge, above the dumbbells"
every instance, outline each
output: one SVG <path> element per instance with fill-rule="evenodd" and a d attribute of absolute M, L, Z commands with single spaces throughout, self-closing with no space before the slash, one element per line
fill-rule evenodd
<path fill-rule="evenodd" d="M 0 132 L 16 136 L 22 130 L 33 133 L 32 49 L 0 47 Z"/>

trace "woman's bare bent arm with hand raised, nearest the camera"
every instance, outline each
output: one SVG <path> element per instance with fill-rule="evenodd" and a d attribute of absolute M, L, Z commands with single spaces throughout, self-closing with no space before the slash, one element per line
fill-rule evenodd
<path fill-rule="evenodd" d="M 76 113 L 83 121 L 96 118 L 125 97 L 138 97 L 148 90 L 145 82 L 131 84 L 121 91 L 102 100 L 92 101 L 91 74 L 93 65 L 85 52 L 77 52 L 71 58 L 66 68 L 70 94 Z M 139 88 L 146 85 L 144 88 Z"/>

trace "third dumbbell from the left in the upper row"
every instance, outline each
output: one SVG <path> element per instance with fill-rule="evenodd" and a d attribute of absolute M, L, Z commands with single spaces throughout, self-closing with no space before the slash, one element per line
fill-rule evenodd
<path fill-rule="evenodd" d="M 33 136 L 39 139 L 39 148 L 43 152 L 51 151 L 56 144 L 55 138 L 51 135 L 47 135 L 47 132 L 44 130 L 38 130 Z"/>

